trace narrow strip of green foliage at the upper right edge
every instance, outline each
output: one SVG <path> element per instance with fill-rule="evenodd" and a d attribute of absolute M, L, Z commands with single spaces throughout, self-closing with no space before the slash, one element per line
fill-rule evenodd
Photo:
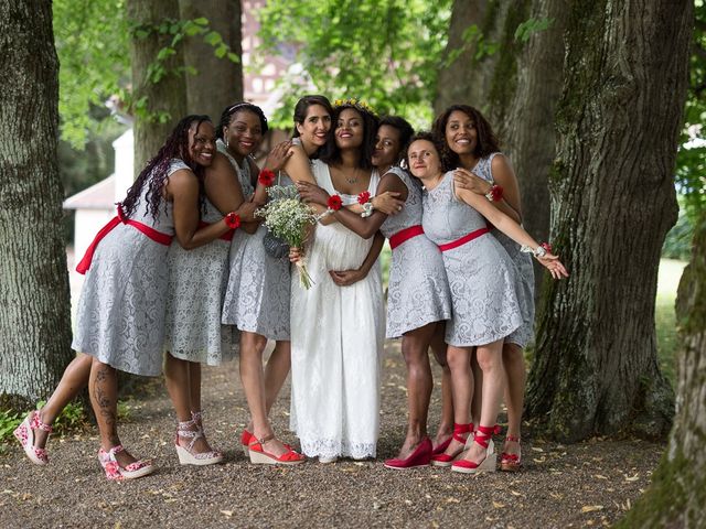
<path fill-rule="evenodd" d="M 692 223 L 706 209 L 706 2 L 695 0 L 695 25 L 689 58 L 689 84 L 684 107 L 682 148 L 676 156 L 676 183 Z M 685 143 L 693 147 L 687 148 Z"/>

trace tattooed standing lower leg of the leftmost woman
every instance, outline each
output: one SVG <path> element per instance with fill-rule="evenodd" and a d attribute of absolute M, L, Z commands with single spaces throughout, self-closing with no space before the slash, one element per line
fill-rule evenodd
<path fill-rule="evenodd" d="M 98 421 L 100 445 L 106 452 L 120 444 L 118 438 L 118 374 L 114 367 L 93 358 L 88 392 Z M 118 464 L 126 467 L 137 460 L 127 451 L 116 454 Z"/>

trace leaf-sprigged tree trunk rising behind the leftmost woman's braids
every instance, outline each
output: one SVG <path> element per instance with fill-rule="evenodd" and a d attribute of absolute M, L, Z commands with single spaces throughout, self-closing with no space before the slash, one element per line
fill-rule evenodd
<path fill-rule="evenodd" d="M 186 85 L 181 50 L 163 63 L 167 73 L 158 83 L 148 78 L 149 66 L 172 40 L 172 35 L 160 34 L 156 28 L 163 21 L 179 19 L 178 2 L 128 0 L 127 10 L 128 19 L 148 33 L 145 37 L 133 35 L 130 43 L 132 96 L 135 101 L 145 101 L 143 111 L 137 114 L 135 121 L 135 172 L 139 174 L 186 115 Z"/>

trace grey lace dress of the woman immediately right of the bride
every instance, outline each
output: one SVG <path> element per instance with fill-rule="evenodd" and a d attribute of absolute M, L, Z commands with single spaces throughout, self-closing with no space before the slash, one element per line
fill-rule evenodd
<path fill-rule="evenodd" d="M 403 229 L 421 225 L 421 186 L 407 172 L 393 168 L 407 186 L 405 207 L 387 217 L 381 231 L 388 239 Z M 387 290 L 388 338 L 431 322 L 451 317 L 451 293 L 441 251 L 424 234 L 405 240 L 392 251 Z"/>

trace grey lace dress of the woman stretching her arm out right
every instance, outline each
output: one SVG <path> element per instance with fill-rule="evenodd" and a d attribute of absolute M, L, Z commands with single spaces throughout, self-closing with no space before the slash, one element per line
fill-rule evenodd
<path fill-rule="evenodd" d="M 422 203 L 424 230 L 437 245 L 486 227 L 485 217 L 453 194 L 452 172 L 434 190 L 425 190 Z M 447 344 L 485 345 L 522 325 L 515 266 L 495 237 L 486 233 L 441 255 L 453 312 L 446 325 Z"/>

